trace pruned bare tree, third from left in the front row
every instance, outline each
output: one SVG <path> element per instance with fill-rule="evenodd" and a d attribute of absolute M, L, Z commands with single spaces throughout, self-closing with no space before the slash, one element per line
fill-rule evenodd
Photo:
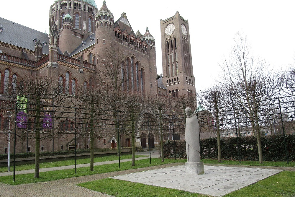
<path fill-rule="evenodd" d="M 135 166 L 135 138 L 139 136 L 136 131 L 137 124 L 140 120 L 141 113 L 147 108 L 147 99 L 140 92 L 121 92 L 119 103 L 122 106 L 121 122 L 126 129 L 126 135 L 131 137 L 132 143 L 132 166 Z M 131 130 L 131 132 L 130 132 Z"/>

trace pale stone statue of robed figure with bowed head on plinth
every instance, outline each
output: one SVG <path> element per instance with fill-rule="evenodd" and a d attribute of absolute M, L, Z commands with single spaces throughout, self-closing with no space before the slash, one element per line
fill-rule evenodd
<path fill-rule="evenodd" d="M 185 164 L 186 174 L 204 174 L 203 162 L 200 162 L 200 128 L 198 118 L 193 114 L 191 108 L 184 110 L 186 113 L 185 123 L 185 141 L 186 157 Z"/>

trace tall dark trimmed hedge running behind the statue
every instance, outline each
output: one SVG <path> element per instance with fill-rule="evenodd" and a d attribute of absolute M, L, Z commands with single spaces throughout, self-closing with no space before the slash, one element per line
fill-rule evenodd
<path fill-rule="evenodd" d="M 240 157 L 242 160 L 259 160 L 257 139 L 255 136 L 238 137 Z M 185 141 L 177 140 L 176 142 L 176 157 L 186 158 Z M 237 138 L 221 138 L 221 158 L 222 159 L 239 159 L 237 150 Z M 286 161 L 286 152 L 284 138 L 282 135 L 262 136 L 261 146 L 263 160 L 265 161 Z M 295 160 L 295 135 L 286 135 L 286 146 L 289 161 Z M 217 138 L 201 139 L 202 158 L 217 158 Z M 173 158 L 174 142 L 164 142 L 164 157 Z"/>

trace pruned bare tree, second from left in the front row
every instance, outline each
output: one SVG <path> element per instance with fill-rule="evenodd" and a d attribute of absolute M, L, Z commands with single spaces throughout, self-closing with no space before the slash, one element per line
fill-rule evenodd
<path fill-rule="evenodd" d="M 94 170 L 94 139 L 107 135 L 106 130 L 103 130 L 106 124 L 104 121 L 106 97 L 108 97 L 106 88 L 98 84 L 86 89 L 81 86 L 76 94 L 78 118 L 82 125 L 80 134 L 90 139 L 90 171 Z"/>

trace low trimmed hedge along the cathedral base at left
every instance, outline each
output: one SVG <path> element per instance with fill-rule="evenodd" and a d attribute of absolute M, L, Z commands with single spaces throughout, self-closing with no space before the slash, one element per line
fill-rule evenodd
<path fill-rule="evenodd" d="M 111 151 L 110 149 L 94 149 L 94 152 L 107 152 Z M 78 149 L 76 153 L 90 153 L 90 149 Z M 58 152 L 40 152 L 40 157 L 44 156 L 54 156 L 54 155 L 67 155 L 67 154 L 75 154 L 75 150 L 71 151 L 58 151 Z M 15 154 L 15 158 L 28 158 L 35 157 L 35 152 L 29 153 L 17 153 Z M 13 154 L 10 154 L 10 158 L 13 158 Z M 8 154 L 0 154 L 0 159 L 8 159 Z"/>

